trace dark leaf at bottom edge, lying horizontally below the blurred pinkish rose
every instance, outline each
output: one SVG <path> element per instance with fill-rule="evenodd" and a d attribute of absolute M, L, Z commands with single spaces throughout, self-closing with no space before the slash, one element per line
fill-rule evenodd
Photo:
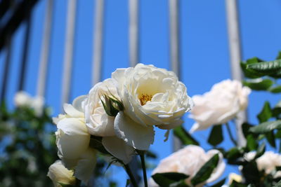
<path fill-rule="evenodd" d="M 187 179 L 188 175 L 176 172 L 157 173 L 152 175 L 152 179 L 159 186 L 169 187 L 172 183 Z"/>

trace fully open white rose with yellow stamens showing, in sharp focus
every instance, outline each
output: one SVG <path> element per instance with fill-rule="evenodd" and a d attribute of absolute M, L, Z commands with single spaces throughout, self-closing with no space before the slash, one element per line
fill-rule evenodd
<path fill-rule="evenodd" d="M 192 107 L 185 85 L 172 71 L 137 64 L 117 69 L 112 78 L 124 104 L 115 133 L 134 148 L 147 150 L 154 141 L 153 125 L 165 130 L 181 125 L 181 116 Z"/>

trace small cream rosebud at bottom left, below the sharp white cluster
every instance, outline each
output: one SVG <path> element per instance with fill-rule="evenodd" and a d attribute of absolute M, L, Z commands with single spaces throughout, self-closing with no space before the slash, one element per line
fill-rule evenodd
<path fill-rule="evenodd" d="M 53 181 L 55 187 L 61 187 L 60 183 L 74 186 L 76 179 L 73 174 L 73 170 L 65 168 L 61 160 L 56 160 L 50 167 L 48 167 L 47 176 Z"/>

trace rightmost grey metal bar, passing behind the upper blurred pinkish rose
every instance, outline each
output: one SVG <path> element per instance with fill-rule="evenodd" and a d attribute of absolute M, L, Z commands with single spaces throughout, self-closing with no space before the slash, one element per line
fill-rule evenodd
<path fill-rule="evenodd" d="M 240 44 L 240 29 L 237 13 L 237 1 L 226 0 L 226 13 L 228 20 L 228 45 L 230 50 L 231 74 L 233 79 L 242 81 L 242 71 L 240 69 L 241 44 Z M 242 123 L 247 120 L 246 111 L 238 113 L 236 123 L 237 143 L 238 146 L 244 146 L 246 139 L 242 133 Z"/>

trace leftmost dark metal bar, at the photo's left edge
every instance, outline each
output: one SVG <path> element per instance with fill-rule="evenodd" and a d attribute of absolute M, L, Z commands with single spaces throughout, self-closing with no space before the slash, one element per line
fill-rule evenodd
<path fill-rule="evenodd" d="M 5 101 L 6 96 L 6 90 L 7 90 L 7 83 L 8 83 L 8 74 L 10 71 L 10 65 L 11 65 L 11 53 L 12 53 L 12 38 L 11 35 L 6 38 L 6 59 L 3 69 L 3 78 L 2 78 L 2 88 L 1 88 L 1 96 L 0 96 L 0 102 L 3 104 Z"/>

